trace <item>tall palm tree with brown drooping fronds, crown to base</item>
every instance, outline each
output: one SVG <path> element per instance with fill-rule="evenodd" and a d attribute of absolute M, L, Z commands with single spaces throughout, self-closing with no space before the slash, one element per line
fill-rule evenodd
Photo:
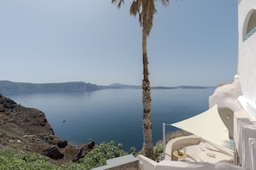
<path fill-rule="evenodd" d="M 147 37 L 153 27 L 153 15 L 156 14 L 155 2 L 157 0 L 134 0 L 130 7 L 130 15 L 139 15 L 140 27 L 142 27 L 142 104 L 143 104 L 143 148 L 142 154 L 153 159 L 153 140 L 151 122 L 151 90 L 148 78 L 147 61 Z M 164 6 L 169 4 L 169 0 L 159 0 Z M 112 3 L 120 8 L 124 0 L 112 0 Z"/>

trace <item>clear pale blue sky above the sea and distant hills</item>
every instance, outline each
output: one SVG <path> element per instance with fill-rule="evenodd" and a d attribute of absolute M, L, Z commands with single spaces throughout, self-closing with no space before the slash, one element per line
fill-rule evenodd
<path fill-rule="evenodd" d="M 156 1 L 147 39 L 152 86 L 215 86 L 237 69 L 237 0 Z M 141 28 L 130 0 L 1 0 L 0 80 L 142 82 Z"/>

